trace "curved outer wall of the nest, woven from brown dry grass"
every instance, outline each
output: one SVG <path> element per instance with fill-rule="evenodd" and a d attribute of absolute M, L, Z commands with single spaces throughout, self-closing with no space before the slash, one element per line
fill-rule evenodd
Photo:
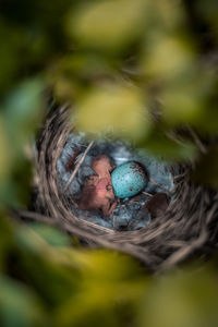
<path fill-rule="evenodd" d="M 118 231 L 76 217 L 59 187 L 57 171 L 71 131 L 68 108 L 59 107 L 49 113 L 37 142 L 34 209 L 41 220 L 78 237 L 85 246 L 128 253 L 150 270 L 172 267 L 196 254 L 206 257 L 216 249 L 218 193 L 191 183 L 190 168 L 183 166 L 172 168 L 174 187 L 167 211 L 144 228 Z"/>

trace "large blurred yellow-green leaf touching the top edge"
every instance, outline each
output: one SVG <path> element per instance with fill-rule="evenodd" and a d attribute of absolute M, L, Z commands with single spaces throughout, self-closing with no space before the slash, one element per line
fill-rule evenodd
<path fill-rule="evenodd" d="M 120 50 L 143 32 L 146 2 L 117 0 L 83 4 L 70 15 L 68 32 L 90 48 Z"/>

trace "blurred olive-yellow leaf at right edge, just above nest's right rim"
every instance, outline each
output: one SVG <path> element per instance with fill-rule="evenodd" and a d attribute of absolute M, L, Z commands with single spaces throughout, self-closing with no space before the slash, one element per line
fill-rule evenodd
<path fill-rule="evenodd" d="M 199 63 L 183 80 L 175 80 L 161 94 L 162 116 L 170 125 L 191 124 L 201 126 L 210 116 L 209 99 L 216 87 L 216 73 Z M 215 104 L 214 104 L 215 105 Z M 211 105 L 213 106 L 213 105 Z M 209 130 L 210 126 L 206 125 Z"/>

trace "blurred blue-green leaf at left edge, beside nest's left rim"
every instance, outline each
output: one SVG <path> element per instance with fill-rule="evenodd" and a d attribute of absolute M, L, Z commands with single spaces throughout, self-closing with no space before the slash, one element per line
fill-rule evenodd
<path fill-rule="evenodd" d="M 35 129 L 39 125 L 43 117 L 43 78 L 28 80 L 11 90 L 2 105 L 2 124 L 7 138 L 2 131 L 0 135 L 2 154 L 0 173 L 1 169 L 5 170 L 4 173 L 9 172 L 10 166 L 11 169 L 8 179 L 0 185 L 0 199 L 13 207 L 26 204 L 29 199 L 32 167 L 25 149 L 31 148 Z M 3 126 L 0 121 L 0 130 Z M 31 152 L 29 149 L 29 154 Z M 10 157 L 10 162 L 5 161 L 8 157 Z"/>

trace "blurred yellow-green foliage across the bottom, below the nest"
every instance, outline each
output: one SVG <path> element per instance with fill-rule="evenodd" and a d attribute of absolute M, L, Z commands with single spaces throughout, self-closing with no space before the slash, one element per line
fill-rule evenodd
<path fill-rule="evenodd" d="M 1 217 L 1 326 L 217 326 L 216 265 L 148 276 L 124 254 Z"/>

